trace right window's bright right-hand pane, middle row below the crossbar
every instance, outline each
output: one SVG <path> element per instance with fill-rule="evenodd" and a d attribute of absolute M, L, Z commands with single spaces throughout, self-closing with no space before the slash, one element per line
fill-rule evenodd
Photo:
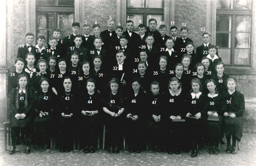
<path fill-rule="evenodd" d="M 236 48 L 250 48 L 250 33 L 236 33 L 235 34 Z"/>

